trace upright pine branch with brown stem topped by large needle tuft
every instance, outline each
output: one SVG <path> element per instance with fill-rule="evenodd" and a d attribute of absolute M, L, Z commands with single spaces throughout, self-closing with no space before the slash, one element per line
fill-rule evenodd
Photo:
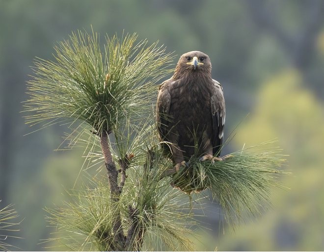
<path fill-rule="evenodd" d="M 72 33 L 68 40 L 54 48 L 54 61 L 35 61 L 35 76 L 28 82 L 30 99 L 25 103 L 28 124 L 41 123 L 45 127 L 70 121 L 73 127 L 80 122 L 76 128 L 81 132 L 74 141 L 81 140 L 81 136 L 88 132 L 94 138 L 85 139 L 87 146 L 90 139 L 97 141 L 100 138 L 108 173 L 111 223 L 89 230 L 91 234 L 96 230 L 93 233 L 98 239 L 96 243 L 104 250 L 125 249 L 121 199 L 126 170 L 133 158 L 131 152 L 115 156 L 118 170 L 108 135 L 113 132 L 119 144 L 117 137 L 123 135 L 125 125 L 131 128 L 142 126 L 142 118 L 147 117 L 147 107 L 151 106 L 156 91 L 154 84 L 170 73 L 168 66 L 173 58 L 171 53 L 165 53 L 165 48 L 158 46 L 158 42 L 148 46 L 147 40 L 136 40 L 136 34 L 123 35 L 122 39 L 116 35 L 107 36 L 102 52 L 99 34 Z M 96 219 L 97 215 L 93 217 Z M 83 229 L 88 230 L 87 227 Z"/>

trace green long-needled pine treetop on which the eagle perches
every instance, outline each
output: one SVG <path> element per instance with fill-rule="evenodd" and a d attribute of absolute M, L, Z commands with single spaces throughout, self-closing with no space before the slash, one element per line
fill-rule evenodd
<path fill-rule="evenodd" d="M 99 42 L 97 33 L 72 33 L 55 47 L 54 61 L 36 59 L 28 82 L 27 123 L 68 123 L 70 146 L 84 146 L 86 158 L 103 162 L 108 173 L 71 190 L 74 202 L 47 209 L 49 222 L 71 234 L 62 237 L 67 246 L 191 250 L 186 195 L 210 189 L 230 223 L 242 210 L 255 214 L 261 202 L 270 203 L 269 188 L 280 187 L 276 177 L 283 174 L 278 148 L 245 148 L 214 164 L 192 157 L 190 170 L 175 173 L 159 148 L 153 112 L 155 84 L 172 71 L 173 53 L 158 42 L 137 42 L 136 34 L 106 36 L 104 50 Z"/>

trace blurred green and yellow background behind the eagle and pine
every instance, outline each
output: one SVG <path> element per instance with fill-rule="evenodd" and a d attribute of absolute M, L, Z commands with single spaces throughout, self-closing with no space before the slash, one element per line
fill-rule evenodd
<path fill-rule="evenodd" d="M 160 40 L 178 56 L 206 52 L 224 88 L 226 136 L 236 132 L 223 154 L 273 138 L 289 154 L 291 189 L 273 190 L 273 209 L 233 232 L 208 202 L 210 232 L 196 250 L 324 250 L 323 0 L 1 0 L 0 208 L 12 203 L 24 219 L 23 239 L 10 242 L 44 250 L 53 230 L 43 208 L 66 200 L 83 163 L 82 152 L 53 151 L 65 126 L 26 135 L 37 129 L 21 113 L 30 66 L 91 25 L 102 38 L 125 30 Z"/>

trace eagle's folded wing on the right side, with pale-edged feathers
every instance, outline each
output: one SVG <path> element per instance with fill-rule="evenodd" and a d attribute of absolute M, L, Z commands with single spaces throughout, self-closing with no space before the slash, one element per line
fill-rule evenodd
<path fill-rule="evenodd" d="M 211 94 L 211 112 L 213 119 L 213 154 L 220 155 L 221 145 L 223 143 L 224 125 L 225 125 L 225 100 L 223 88 L 218 81 L 213 79 L 213 90 Z"/>

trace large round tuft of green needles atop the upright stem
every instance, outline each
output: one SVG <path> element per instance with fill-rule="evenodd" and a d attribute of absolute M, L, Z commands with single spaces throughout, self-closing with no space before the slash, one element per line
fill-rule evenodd
<path fill-rule="evenodd" d="M 30 125 L 86 122 L 101 135 L 126 120 L 140 120 L 152 103 L 153 85 L 170 72 L 173 57 L 158 42 L 137 35 L 106 37 L 78 31 L 55 46 L 54 60 L 37 59 L 28 82 L 25 111 Z M 153 91 L 153 92 L 152 92 Z"/>

